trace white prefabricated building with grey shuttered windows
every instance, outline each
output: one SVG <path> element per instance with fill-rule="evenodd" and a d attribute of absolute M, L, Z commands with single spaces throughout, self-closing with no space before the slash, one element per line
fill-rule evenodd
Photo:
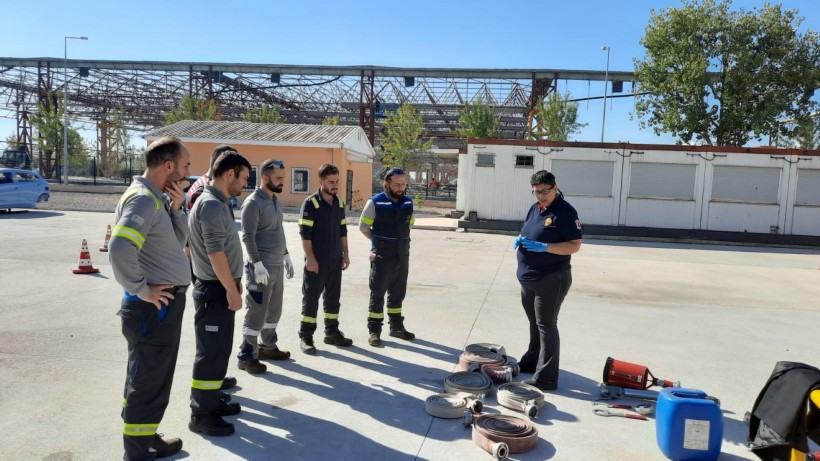
<path fill-rule="evenodd" d="M 545 169 L 586 224 L 820 235 L 820 156 L 534 144 L 468 145 L 458 209 L 523 220 Z"/>

